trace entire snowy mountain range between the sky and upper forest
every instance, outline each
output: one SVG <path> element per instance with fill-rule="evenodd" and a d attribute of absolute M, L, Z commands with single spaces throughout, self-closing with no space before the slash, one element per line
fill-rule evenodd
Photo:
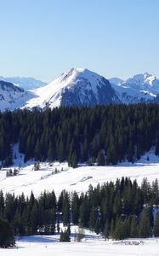
<path fill-rule="evenodd" d="M 0 79 L 4 80 L 3 77 Z M 9 79 L 14 84 L 0 81 L 1 111 L 16 108 L 94 107 L 109 103 L 159 102 L 159 79 L 149 73 L 138 74 L 127 80 L 105 79 L 86 68 L 71 68 L 47 85 L 31 78 Z M 27 90 L 21 89 L 22 86 Z"/>

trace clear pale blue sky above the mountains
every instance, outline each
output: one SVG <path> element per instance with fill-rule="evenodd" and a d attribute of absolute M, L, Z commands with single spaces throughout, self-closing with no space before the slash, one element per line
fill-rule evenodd
<path fill-rule="evenodd" d="M 159 0 L 0 0 L 0 75 L 159 78 Z"/>

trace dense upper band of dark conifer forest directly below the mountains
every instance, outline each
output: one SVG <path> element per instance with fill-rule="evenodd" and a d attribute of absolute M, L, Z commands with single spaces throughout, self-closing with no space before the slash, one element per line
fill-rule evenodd
<path fill-rule="evenodd" d="M 159 154 L 159 105 L 109 105 L 0 113 L 0 160 L 12 164 L 19 143 L 25 161 L 67 160 L 100 166 L 133 162 L 152 146 Z M 105 158 L 106 155 L 106 158 Z"/>

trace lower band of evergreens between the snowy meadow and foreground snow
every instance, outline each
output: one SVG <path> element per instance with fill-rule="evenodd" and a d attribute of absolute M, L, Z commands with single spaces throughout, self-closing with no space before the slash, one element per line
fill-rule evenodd
<path fill-rule="evenodd" d="M 71 223 L 102 233 L 105 239 L 159 236 L 159 208 L 155 205 L 159 205 L 158 182 L 150 185 L 146 178 L 141 186 L 128 177 L 96 188 L 90 185 L 88 192 L 81 195 L 63 190 L 58 199 L 54 191 L 44 192 L 38 198 L 33 193 L 30 197 L 4 196 L 0 191 L 0 227 L 3 218 L 16 236 L 58 232 L 60 241 L 70 241 Z M 158 209 L 156 218 L 155 209 Z M 60 223 L 65 230 L 60 230 Z"/>

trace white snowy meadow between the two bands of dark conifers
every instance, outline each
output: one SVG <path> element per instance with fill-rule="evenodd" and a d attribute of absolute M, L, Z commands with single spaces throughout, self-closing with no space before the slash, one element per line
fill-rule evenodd
<path fill-rule="evenodd" d="M 88 190 L 89 184 L 96 186 L 98 183 L 116 181 L 117 177 L 130 177 L 132 180 L 136 179 L 139 184 L 144 177 L 147 177 L 150 183 L 156 178 L 159 179 L 159 158 L 153 150 L 134 164 L 125 162 L 117 166 L 79 166 L 73 169 L 68 167 L 67 163 L 54 162 L 51 166 L 49 163 L 40 163 L 39 171 L 33 170 L 33 161 L 23 165 L 23 156 L 20 158 L 17 153 L 14 166 L 19 165 L 20 173 L 14 177 L 6 177 L 9 168 L 0 171 L 0 189 L 3 189 L 4 193 L 20 195 L 24 192 L 25 195 L 30 195 L 32 190 L 38 196 L 44 190 L 54 189 L 56 195 L 59 195 L 62 189 L 81 193 Z"/>

